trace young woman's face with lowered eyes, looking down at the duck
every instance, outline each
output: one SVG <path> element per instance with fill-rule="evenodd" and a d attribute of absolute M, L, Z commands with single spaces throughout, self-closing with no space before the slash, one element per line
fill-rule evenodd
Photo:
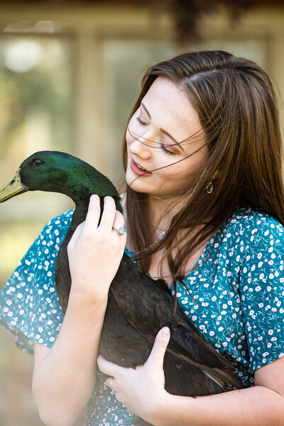
<path fill-rule="evenodd" d="M 200 119 L 186 92 L 158 77 L 126 133 L 126 182 L 134 191 L 170 198 L 192 186 L 208 156 Z"/>

